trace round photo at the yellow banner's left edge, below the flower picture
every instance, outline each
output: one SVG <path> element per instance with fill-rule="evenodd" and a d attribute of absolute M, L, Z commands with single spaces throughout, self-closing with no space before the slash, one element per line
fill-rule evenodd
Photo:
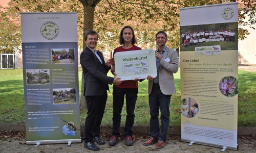
<path fill-rule="evenodd" d="M 181 100 L 181 114 L 187 118 L 197 116 L 199 111 L 197 101 L 191 97 L 185 97 Z"/>

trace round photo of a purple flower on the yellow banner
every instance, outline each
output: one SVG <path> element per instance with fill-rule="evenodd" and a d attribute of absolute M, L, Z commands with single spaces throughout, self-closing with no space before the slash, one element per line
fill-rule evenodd
<path fill-rule="evenodd" d="M 238 80 L 234 77 L 224 77 L 219 84 L 221 93 L 227 97 L 233 97 L 238 94 Z"/>

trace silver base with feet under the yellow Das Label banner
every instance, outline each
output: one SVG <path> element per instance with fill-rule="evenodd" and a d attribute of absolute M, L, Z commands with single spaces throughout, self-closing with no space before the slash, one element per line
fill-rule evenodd
<path fill-rule="evenodd" d="M 218 143 L 210 143 L 210 142 L 203 142 L 203 141 L 198 141 L 198 140 L 191 140 L 191 139 L 184 139 L 181 138 L 180 139 L 183 142 L 188 142 L 189 145 L 196 143 L 196 144 L 201 144 L 201 145 L 208 145 L 208 146 L 214 146 L 214 147 L 219 147 L 222 148 L 222 150 L 224 149 L 232 149 L 232 150 L 238 150 L 238 144 L 236 146 L 231 146 L 231 145 L 223 145 L 223 144 L 218 144 Z"/>

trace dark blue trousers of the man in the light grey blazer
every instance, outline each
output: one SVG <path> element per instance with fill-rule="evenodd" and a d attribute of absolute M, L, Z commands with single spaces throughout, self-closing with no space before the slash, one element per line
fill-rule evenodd
<path fill-rule="evenodd" d="M 169 127 L 169 106 L 170 106 L 170 97 L 172 95 L 165 95 L 161 92 L 160 87 L 155 87 L 153 85 L 151 94 L 148 95 L 150 102 L 150 135 L 152 138 L 166 141 L 167 139 L 167 130 Z M 161 111 L 161 135 L 159 127 L 159 108 Z"/>

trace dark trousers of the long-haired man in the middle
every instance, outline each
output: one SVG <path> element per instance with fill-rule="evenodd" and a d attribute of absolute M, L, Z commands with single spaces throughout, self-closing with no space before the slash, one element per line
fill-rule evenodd
<path fill-rule="evenodd" d="M 124 127 L 124 138 L 133 135 L 134 109 L 138 97 L 138 88 L 113 88 L 113 130 L 112 136 L 119 137 L 119 129 L 121 122 L 121 112 L 124 103 L 124 95 L 126 100 L 126 121 Z"/>

